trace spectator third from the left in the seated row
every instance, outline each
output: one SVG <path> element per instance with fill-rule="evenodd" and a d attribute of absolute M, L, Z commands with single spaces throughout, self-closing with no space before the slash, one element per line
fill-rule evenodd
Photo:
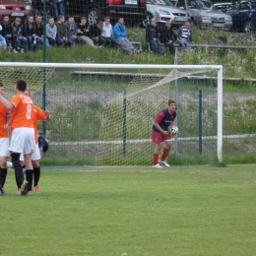
<path fill-rule="evenodd" d="M 35 23 L 33 22 L 33 16 L 29 16 L 28 20 L 23 25 L 23 36 L 27 38 L 28 50 L 35 51 L 37 49 L 38 39 L 36 36 Z"/>

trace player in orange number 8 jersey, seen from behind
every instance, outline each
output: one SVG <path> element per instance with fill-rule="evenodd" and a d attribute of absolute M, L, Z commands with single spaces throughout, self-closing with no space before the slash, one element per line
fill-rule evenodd
<path fill-rule="evenodd" d="M 20 156 L 24 154 L 27 170 L 32 171 L 32 153 L 35 152 L 34 129 L 32 121 L 32 98 L 25 94 L 27 83 L 24 80 L 18 80 L 15 85 L 15 93 L 11 101 L 0 95 L 0 101 L 7 109 L 12 110 L 11 121 L 11 153 L 12 162 L 15 169 L 15 175 L 21 185 L 21 195 L 28 194 L 29 182 L 23 175 L 23 167 L 20 163 Z"/>

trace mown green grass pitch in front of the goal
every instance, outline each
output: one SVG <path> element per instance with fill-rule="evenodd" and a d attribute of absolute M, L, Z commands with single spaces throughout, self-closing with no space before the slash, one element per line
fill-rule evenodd
<path fill-rule="evenodd" d="M 0 197 L 0 255 L 255 255 L 255 164 L 44 169 Z"/>

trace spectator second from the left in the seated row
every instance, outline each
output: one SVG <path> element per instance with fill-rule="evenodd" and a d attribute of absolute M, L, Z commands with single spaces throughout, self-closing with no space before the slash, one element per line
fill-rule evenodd
<path fill-rule="evenodd" d="M 24 49 L 27 45 L 27 38 L 23 36 L 23 27 L 21 25 L 22 20 L 21 18 L 16 18 L 13 24 L 13 32 L 14 32 L 14 39 L 13 39 L 13 52 L 18 53 L 17 50 L 21 49 L 21 53 L 24 52 Z"/>

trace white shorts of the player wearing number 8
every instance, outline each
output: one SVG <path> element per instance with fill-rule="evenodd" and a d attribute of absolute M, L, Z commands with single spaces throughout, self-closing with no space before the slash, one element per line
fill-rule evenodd
<path fill-rule="evenodd" d="M 35 152 L 33 128 L 20 127 L 12 131 L 10 152 L 31 154 Z"/>

